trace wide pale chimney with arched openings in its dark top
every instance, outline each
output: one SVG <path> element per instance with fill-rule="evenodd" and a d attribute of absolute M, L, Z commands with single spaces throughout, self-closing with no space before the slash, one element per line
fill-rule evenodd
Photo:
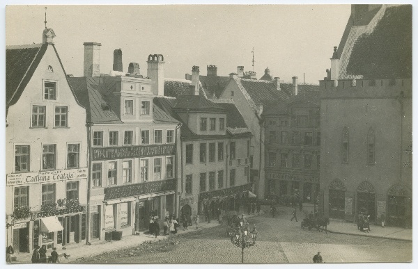
<path fill-rule="evenodd" d="M 147 76 L 153 84 L 151 90 L 154 95 L 164 96 L 164 56 L 162 54 L 148 55 Z"/>

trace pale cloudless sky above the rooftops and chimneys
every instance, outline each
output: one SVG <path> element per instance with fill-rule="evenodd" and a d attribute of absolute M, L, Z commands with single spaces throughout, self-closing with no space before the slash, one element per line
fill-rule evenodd
<path fill-rule="evenodd" d="M 83 75 L 84 42 L 100 42 L 100 72 L 109 74 L 114 49 L 123 72 L 139 63 L 146 76 L 149 54 L 164 55 L 164 76 L 184 79 L 198 65 L 217 65 L 219 76 L 266 67 L 281 81 L 298 76 L 316 83 L 326 76 L 350 5 L 46 6 L 47 27 L 67 74 Z M 6 45 L 42 42 L 45 6 L 7 6 Z"/>

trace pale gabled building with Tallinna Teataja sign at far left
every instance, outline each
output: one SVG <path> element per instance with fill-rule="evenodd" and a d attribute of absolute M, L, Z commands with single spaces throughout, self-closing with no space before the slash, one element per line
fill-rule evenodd
<path fill-rule="evenodd" d="M 86 240 L 86 109 L 55 36 L 6 47 L 6 245 L 17 254 Z"/>

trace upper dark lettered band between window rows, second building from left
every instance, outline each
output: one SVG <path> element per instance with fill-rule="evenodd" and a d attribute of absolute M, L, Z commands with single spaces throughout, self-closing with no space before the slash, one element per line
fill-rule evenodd
<path fill-rule="evenodd" d="M 141 145 L 132 147 L 93 148 L 93 161 L 114 160 L 116 158 L 139 158 L 174 154 L 174 145 Z"/>

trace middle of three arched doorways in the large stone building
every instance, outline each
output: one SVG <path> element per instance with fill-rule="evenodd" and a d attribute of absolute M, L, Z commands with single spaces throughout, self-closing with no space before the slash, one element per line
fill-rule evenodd
<path fill-rule="evenodd" d="M 376 220 L 375 189 L 369 181 L 363 181 L 357 188 L 357 213 L 370 215 L 369 220 Z"/>

